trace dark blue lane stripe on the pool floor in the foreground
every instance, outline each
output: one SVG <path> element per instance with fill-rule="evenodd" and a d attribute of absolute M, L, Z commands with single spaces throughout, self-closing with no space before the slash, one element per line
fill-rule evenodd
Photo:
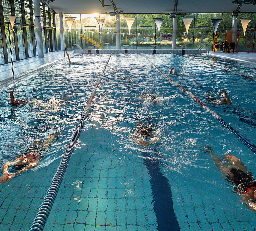
<path fill-rule="evenodd" d="M 148 152 L 141 152 L 144 164 L 151 177 L 150 185 L 153 195 L 154 211 L 158 231 L 179 231 L 180 226 L 174 213 L 172 190 L 168 179 L 163 175 L 158 159 Z"/>

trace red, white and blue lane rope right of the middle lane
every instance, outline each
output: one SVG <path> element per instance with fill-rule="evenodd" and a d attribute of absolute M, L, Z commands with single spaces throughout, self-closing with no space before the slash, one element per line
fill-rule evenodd
<path fill-rule="evenodd" d="M 240 134 L 238 131 L 236 131 L 234 128 L 232 128 L 227 122 L 225 122 L 220 116 L 218 116 L 214 111 L 212 111 L 209 107 L 207 107 L 202 101 L 200 101 L 194 94 L 192 94 L 190 91 L 186 90 L 184 87 L 182 87 L 180 84 L 174 82 L 168 75 L 164 74 L 161 70 L 158 69 L 158 67 L 153 64 L 145 55 L 141 53 L 141 55 L 146 58 L 162 75 L 166 76 L 171 83 L 178 86 L 181 90 L 185 91 L 187 94 L 189 94 L 196 102 L 198 102 L 202 108 L 204 108 L 206 111 L 208 111 L 215 119 L 217 119 L 222 126 L 224 126 L 226 129 L 228 129 L 230 132 L 235 134 L 252 152 L 256 152 L 256 146 L 250 142 L 247 138 L 245 138 L 242 134 Z"/>

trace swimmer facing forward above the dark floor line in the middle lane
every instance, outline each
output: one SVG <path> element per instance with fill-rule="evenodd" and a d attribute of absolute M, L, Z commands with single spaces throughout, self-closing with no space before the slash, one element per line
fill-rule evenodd
<path fill-rule="evenodd" d="M 154 128 L 143 124 L 140 120 L 137 120 L 136 122 L 138 123 L 138 132 L 131 136 L 133 140 L 141 144 L 143 147 L 147 147 L 151 143 L 159 140 L 159 138 L 154 134 Z"/>

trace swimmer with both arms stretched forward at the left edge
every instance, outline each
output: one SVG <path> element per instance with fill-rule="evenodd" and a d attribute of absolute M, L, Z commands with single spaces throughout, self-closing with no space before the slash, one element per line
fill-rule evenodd
<path fill-rule="evenodd" d="M 17 157 L 14 161 L 7 162 L 3 165 L 3 174 L 0 177 L 1 183 L 6 183 L 10 181 L 14 176 L 17 176 L 29 169 L 34 168 L 38 165 L 39 160 L 42 159 L 42 152 L 44 152 L 49 146 L 53 139 L 59 134 L 50 135 L 44 142 L 34 141 L 30 147 L 23 153 Z M 18 170 L 16 173 L 9 173 L 8 168 L 10 165 Z"/>

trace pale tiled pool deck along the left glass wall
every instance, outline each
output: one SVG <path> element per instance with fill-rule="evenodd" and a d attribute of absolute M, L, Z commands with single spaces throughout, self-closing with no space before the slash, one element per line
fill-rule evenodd
<path fill-rule="evenodd" d="M 72 55 L 72 51 L 68 51 Z M 18 60 L 13 62 L 14 78 L 12 77 L 11 62 L 0 65 L 0 89 L 8 86 L 13 81 L 18 81 L 29 74 L 38 72 L 53 65 L 54 63 L 63 60 L 64 51 L 55 51 L 44 54 L 44 58 L 37 56 Z"/>

